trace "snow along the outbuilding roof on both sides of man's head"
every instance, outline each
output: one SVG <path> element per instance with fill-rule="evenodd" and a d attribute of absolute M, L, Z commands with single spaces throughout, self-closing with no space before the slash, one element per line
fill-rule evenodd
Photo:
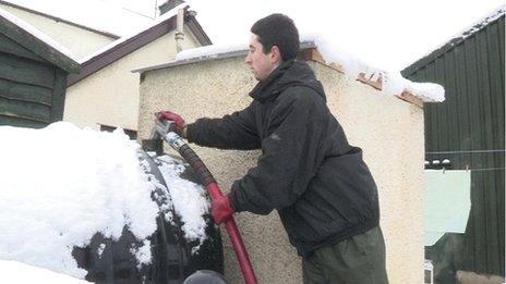
<path fill-rule="evenodd" d="M 324 39 L 318 34 L 301 35 L 301 49 L 316 47 L 326 64 L 337 64 L 347 77 L 370 78 L 370 81 L 382 82 L 382 90 L 396 96 L 402 92 L 410 92 L 424 102 L 441 102 L 445 100 L 445 89 L 443 86 L 433 83 L 414 83 L 402 77 L 400 72 L 385 72 L 374 67 L 354 55 L 341 50 L 338 46 Z M 248 51 L 248 45 L 210 45 L 182 50 L 176 59 L 156 66 L 143 67 L 133 72 L 144 72 L 148 70 L 161 69 L 178 64 L 193 63 L 202 60 L 212 60 L 241 55 Z"/>

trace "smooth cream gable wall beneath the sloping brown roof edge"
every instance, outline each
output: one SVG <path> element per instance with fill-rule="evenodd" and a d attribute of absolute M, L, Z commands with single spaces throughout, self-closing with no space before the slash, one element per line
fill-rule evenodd
<path fill-rule="evenodd" d="M 184 33 L 183 49 L 200 46 L 188 28 Z M 136 131 L 140 75 L 131 71 L 174 55 L 171 32 L 75 83 L 67 89 L 63 120 L 95 129 L 103 124 Z"/>

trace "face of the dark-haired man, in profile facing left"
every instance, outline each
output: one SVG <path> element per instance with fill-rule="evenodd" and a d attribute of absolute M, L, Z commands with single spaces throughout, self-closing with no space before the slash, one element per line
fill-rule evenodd
<path fill-rule="evenodd" d="M 273 47 L 270 51 L 265 54 L 264 47 L 258 41 L 258 37 L 255 34 L 251 34 L 250 52 L 248 52 L 244 62 L 250 66 L 251 72 L 253 72 L 257 81 L 265 79 L 279 64 L 279 52 L 273 52 L 275 48 L 277 47 Z"/>

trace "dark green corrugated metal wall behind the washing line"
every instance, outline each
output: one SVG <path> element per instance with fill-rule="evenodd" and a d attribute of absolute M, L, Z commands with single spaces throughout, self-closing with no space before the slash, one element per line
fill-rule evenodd
<path fill-rule="evenodd" d="M 471 212 L 458 269 L 504 276 L 505 89 L 503 15 L 402 71 L 443 85 L 446 101 L 425 103 L 426 160 L 471 171 Z M 448 200 L 450 205 L 451 200 Z"/>

